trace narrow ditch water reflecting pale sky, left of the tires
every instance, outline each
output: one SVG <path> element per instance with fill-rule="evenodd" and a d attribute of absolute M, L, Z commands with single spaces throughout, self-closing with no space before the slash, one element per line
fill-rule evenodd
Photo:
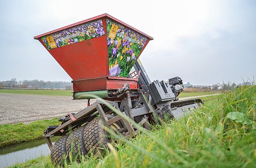
<path fill-rule="evenodd" d="M 55 142 L 60 137 L 51 138 Z M 44 139 L 0 147 L 0 168 L 6 168 L 16 163 L 24 163 L 27 160 L 49 155 L 50 150 Z"/>

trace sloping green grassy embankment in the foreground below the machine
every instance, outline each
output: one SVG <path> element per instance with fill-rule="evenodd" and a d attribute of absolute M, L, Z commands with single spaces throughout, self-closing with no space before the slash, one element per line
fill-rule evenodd
<path fill-rule="evenodd" d="M 256 87 L 238 88 L 180 120 L 113 144 L 112 152 L 72 168 L 254 167 L 256 165 Z M 15 168 L 52 168 L 49 156 Z M 67 167 L 67 166 L 66 166 Z"/>

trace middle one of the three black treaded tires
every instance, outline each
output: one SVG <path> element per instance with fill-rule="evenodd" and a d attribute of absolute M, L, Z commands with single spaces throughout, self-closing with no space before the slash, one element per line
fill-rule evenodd
<path fill-rule="evenodd" d="M 66 153 L 71 153 L 73 159 L 80 160 L 80 156 L 86 155 L 88 152 L 84 146 L 84 129 L 86 125 L 79 127 L 71 134 L 69 134 L 66 140 Z"/>

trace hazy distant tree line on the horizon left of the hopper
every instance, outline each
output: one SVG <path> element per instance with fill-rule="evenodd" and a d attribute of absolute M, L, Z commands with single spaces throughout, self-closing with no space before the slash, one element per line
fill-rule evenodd
<path fill-rule="evenodd" d="M 0 81 L 0 87 L 7 88 L 24 88 L 24 89 L 67 89 L 72 90 L 73 86 L 71 82 L 63 81 L 43 81 L 43 80 L 20 80 L 12 78 L 9 81 Z"/>

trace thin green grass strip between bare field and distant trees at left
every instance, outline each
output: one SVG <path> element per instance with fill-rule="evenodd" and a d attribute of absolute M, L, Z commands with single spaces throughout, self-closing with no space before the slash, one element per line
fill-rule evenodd
<path fill-rule="evenodd" d="M 25 95 L 51 95 L 51 96 L 72 96 L 72 90 L 0 90 L 0 93 L 25 94 Z"/>

